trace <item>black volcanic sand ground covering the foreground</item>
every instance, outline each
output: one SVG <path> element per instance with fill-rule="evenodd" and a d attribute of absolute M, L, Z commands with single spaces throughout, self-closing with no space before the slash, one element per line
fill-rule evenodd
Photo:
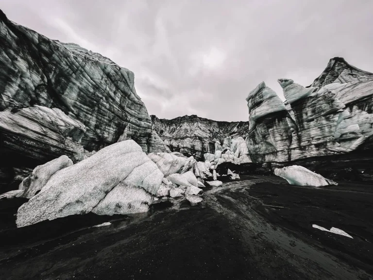
<path fill-rule="evenodd" d="M 373 279 L 369 184 L 313 188 L 241 175 L 206 188 L 198 207 L 171 199 L 141 215 L 18 229 L 17 205 L 9 209 L 0 207 L 0 279 Z"/>

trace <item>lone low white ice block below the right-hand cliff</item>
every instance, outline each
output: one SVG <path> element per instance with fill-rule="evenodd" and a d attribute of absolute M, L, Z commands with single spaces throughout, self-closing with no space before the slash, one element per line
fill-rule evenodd
<path fill-rule="evenodd" d="M 336 182 L 299 165 L 291 165 L 281 169 L 276 168 L 274 174 L 286 179 L 290 185 L 314 187 L 338 185 Z"/>

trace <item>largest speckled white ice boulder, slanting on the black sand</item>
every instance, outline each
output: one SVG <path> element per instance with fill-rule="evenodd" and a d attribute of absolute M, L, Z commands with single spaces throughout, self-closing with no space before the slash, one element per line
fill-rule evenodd
<path fill-rule="evenodd" d="M 112 144 L 52 175 L 41 191 L 18 209 L 17 227 L 90 211 L 110 215 L 108 205 L 121 197 L 131 203 L 125 209 L 142 209 L 137 205 L 141 201 L 146 211 L 146 202 L 157 193 L 162 178 L 163 173 L 134 140 Z M 126 194 L 131 188 L 136 190 Z M 111 191 L 114 193 L 108 195 Z"/>

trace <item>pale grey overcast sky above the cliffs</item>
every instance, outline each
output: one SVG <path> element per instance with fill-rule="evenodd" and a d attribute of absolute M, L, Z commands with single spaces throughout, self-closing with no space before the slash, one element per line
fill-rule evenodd
<path fill-rule="evenodd" d="M 310 85 L 330 58 L 373 72 L 373 0 L 0 0 L 7 17 L 135 73 L 149 114 L 247 121 L 260 82 Z"/>

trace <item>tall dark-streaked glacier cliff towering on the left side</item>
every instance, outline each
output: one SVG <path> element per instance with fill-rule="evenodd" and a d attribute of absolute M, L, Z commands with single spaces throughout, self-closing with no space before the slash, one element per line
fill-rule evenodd
<path fill-rule="evenodd" d="M 119 140 L 135 140 L 144 152 L 167 150 L 153 134 L 130 70 L 1 11 L 0 49 L 2 177 L 61 155 L 77 162 Z"/>

